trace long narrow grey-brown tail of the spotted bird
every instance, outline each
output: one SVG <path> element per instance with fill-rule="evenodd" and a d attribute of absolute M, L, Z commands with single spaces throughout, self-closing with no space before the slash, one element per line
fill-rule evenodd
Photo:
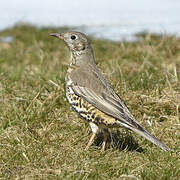
<path fill-rule="evenodd" d="M 137 122 L 136 122 L 137 123 Z M 146 131 L 140 124 L 136 124 L 136 127 L 134 126 L 129 126 L 127 124 L 123 125 L 128 128 L 131 129 L 132 131 L 136 132 L 137 134 L 139 134 L 140 136 L 146 138 L 147 140 L 149 140 L 150 142 L 152 142 L 153 144 L 159 146 L 161 149 L 165 150 L 165 151 L 170 151 L 170 148 L 165 145 L 163 142 L 161 142 L 159 139 L 157 139 L 155 136 L 153 136 L 152 134 L 150 134 L 148 131 Z"/>

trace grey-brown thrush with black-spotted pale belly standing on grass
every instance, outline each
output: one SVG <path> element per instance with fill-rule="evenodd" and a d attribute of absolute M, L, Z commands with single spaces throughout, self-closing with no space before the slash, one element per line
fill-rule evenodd
<path fill-rule="evenodd" d="M 109 129 L 126 128 L 161 149 L 170 151 L 167 145 L 135 120 L 122 98 L 104 78 L 95 64 L 93 49 L 84 33 L 69 31 L 50 35 L 63 40 L 70 51 L 70 64 L 65 76 L 66 98 L 72 109 L 91 127 L 92 135 L 86 150 L 93 144 L 100 131 L 104 135 L 101 148 L 104 151 Z"/>

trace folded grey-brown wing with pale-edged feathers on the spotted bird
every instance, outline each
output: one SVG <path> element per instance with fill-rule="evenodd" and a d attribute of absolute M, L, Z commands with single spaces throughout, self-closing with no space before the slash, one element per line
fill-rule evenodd
<path fill-rule="evenodd" d="M 142 127 L 136 122 L 132 115 L 129 113 L 124 103 L 114 97 L 107 95 L 106 93 L 97 94 L 90 88 L 75 85 L 72 87 L 74 92 L 84 98 L 89 103 L 93 104 L 100 111 L 118 119 L 122 125 L 129 128 L 140 128 Z"/>

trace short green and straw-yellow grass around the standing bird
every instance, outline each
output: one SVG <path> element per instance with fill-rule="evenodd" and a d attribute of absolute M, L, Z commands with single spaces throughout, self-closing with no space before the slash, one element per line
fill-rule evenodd
<path fill-rule="evenodd" d="M 164 152 L 135 133 L 113 129 L 88 151 L 90 128 L 64 93 L 69 52 L 49 36 L 67 28 L 17 25 L 0 32 L 1 179 L 180 178 L 180 39 L 139 35 L 139 42 L 90 39 L 98 67 L 134 117 L 165 142 Z"/>

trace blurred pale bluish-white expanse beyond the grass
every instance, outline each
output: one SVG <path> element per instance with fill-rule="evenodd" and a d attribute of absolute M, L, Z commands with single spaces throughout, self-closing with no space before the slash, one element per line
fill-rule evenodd
<path fill-rule="evenodd" d="M 140 32 L 180 36 L 179 0 L 0 0 L 0 30 L 16 23 L 70 26 L 110 40 Z"/>

